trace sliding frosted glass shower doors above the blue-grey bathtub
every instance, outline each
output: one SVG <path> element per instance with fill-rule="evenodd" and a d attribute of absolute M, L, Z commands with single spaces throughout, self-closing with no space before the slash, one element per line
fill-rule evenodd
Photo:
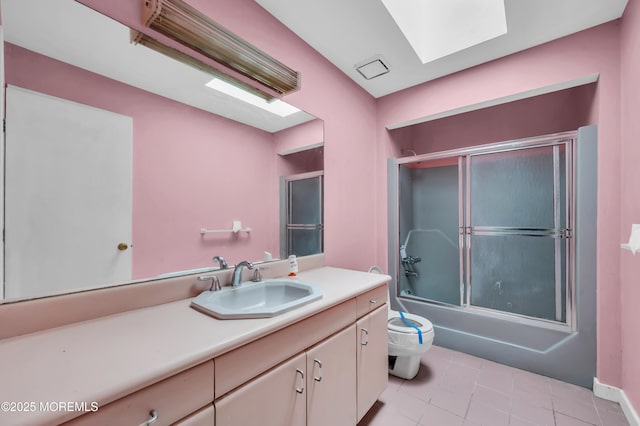
<path fill-rule="evenodd" d="M 399 293 L 571 323 L 572 139 L 400 164 Z"/>

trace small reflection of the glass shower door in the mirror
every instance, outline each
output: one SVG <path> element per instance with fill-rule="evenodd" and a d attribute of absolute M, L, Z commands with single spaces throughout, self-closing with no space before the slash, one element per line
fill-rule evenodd
<path fill-rule="evenodd" d="M 286 256 L 308 256 L 324 249 L 323 172 L 285 178 Z"/>

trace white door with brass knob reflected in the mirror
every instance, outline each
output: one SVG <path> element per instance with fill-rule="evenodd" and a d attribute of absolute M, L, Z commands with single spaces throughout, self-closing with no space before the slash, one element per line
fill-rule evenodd
<path fill-rule="evenodd" d="M 129 281 L 132 119 L 9 86 L 6 120 L 5 298 Z"/>

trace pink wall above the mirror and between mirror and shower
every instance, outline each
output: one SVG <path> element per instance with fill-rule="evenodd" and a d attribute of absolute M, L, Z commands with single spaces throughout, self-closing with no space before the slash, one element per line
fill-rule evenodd
<path fill-rule="evenodd" d="M 138 2 L 82 0 L 138 25 Z M 135 7 L 131 4 L 135 3 Z M 367 270 L 377 260 L 376 102 L 252 0 L 193 0 L 192 6 L 300 71 L 302 89 L 285 100 L 325 122 L 325 251 L 329 265 Z M 348 185 L 346 184 L 348 183 Z M 277 200 L 274 198 L 274 206 Z M 275 210 L 275 207 L 274 207 Z"/>

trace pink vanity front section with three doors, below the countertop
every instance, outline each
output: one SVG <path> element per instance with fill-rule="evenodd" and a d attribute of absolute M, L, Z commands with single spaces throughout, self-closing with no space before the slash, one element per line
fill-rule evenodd
<path fill-rule="evenodd" d="M 387 385 L 386 294 L 380 286 L 216 358 L 216 426 L 354 426 Z M 275 355 L 286 361 L 240 381 Z"/>

